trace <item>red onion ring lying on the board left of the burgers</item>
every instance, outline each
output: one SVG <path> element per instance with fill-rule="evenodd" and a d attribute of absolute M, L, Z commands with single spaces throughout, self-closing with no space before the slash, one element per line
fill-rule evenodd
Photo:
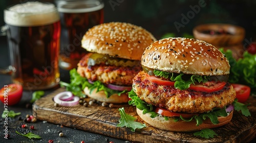
<path fill-rule="evenodd" d="M 72 92 L 64 91 L 56 94 L 53 101 L 61 106 L 74 106 L 79 103 L 80 98 L 73 96 Z"/>

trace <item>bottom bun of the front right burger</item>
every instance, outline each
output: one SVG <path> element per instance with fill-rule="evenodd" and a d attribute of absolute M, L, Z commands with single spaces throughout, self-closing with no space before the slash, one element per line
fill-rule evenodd
<path fill-rule="evenodd" d="M 231 121 L 231 118 L 233 116 L 233 111 L 231 111 L 226 117 L 218 117 L 219 124 L 212 124 L 209 119 L 206 119 L 203 121 L 203 123 L 199 126 L 196 126 L 196 121 L 190 121 L 185 122 L 182 120 L 179 120 L 178 122 L 175 122 L 172 119 L 169 119 L 168 121 L 164 120 L 164 117 L 157 116 L 157 117 L 150 117 L 150 113 L 143 114 L 142 110 L 136 108 L 136 111 L 138 115 L 142 118 L 143 121 L 150 124 L 153 127 L 156 127 L 158 129 L 167 130 L 167 131 L 175 131 L 175 132 L 190 132 L 190 131 L 198 131 L 202 129 L 211 129 L 211 128 L 217 128 L 220 126 L 223 126 Z"/>

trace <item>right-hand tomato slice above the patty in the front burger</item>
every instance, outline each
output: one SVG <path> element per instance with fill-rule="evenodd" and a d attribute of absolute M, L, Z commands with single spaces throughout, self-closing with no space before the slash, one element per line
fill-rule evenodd
<path fill-rule="evenodd" d="M 226 85 L 226 82 L 208 81 L 203 84 L 190 84 L 189 89 L 202 92 L 215 92 L 221 90 Z"/>

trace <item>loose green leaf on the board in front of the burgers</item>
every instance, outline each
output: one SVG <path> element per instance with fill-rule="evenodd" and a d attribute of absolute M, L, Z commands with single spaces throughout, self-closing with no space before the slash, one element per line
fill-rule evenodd
<path fill-rule="evenodd" d="M 136 122 L 136 118 L 126 114 L 124 111 L 124 108 L 119 108 L 118 111 L 120 112 L 121 118 L 119 120 L 119 123 L 117 124 L 117 127 L 128 127 L 130 128 L 133 132 L 135 132 L 136 129 L 142 129 L 146 127 L 145 124 L 141 124 L 139 122 Z"/>

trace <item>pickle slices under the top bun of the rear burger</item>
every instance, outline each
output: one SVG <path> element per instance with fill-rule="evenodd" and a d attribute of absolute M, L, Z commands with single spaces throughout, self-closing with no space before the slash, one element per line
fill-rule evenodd
<path fill-rule="evenodd" d="M 111 57 L 109 55 L 103 55 L 103 54 L 98 54 L 94 53 L 90 56 L 88 60 L 88 65 L 96 65 L 100 63 L 105 63 L 106 65 L 115 65 L 115 66 L 136 66 L 140 64 L 139 60 L 128 60 L 128 59 L 122 59 L 122 58 L 115 58 Z"/>

